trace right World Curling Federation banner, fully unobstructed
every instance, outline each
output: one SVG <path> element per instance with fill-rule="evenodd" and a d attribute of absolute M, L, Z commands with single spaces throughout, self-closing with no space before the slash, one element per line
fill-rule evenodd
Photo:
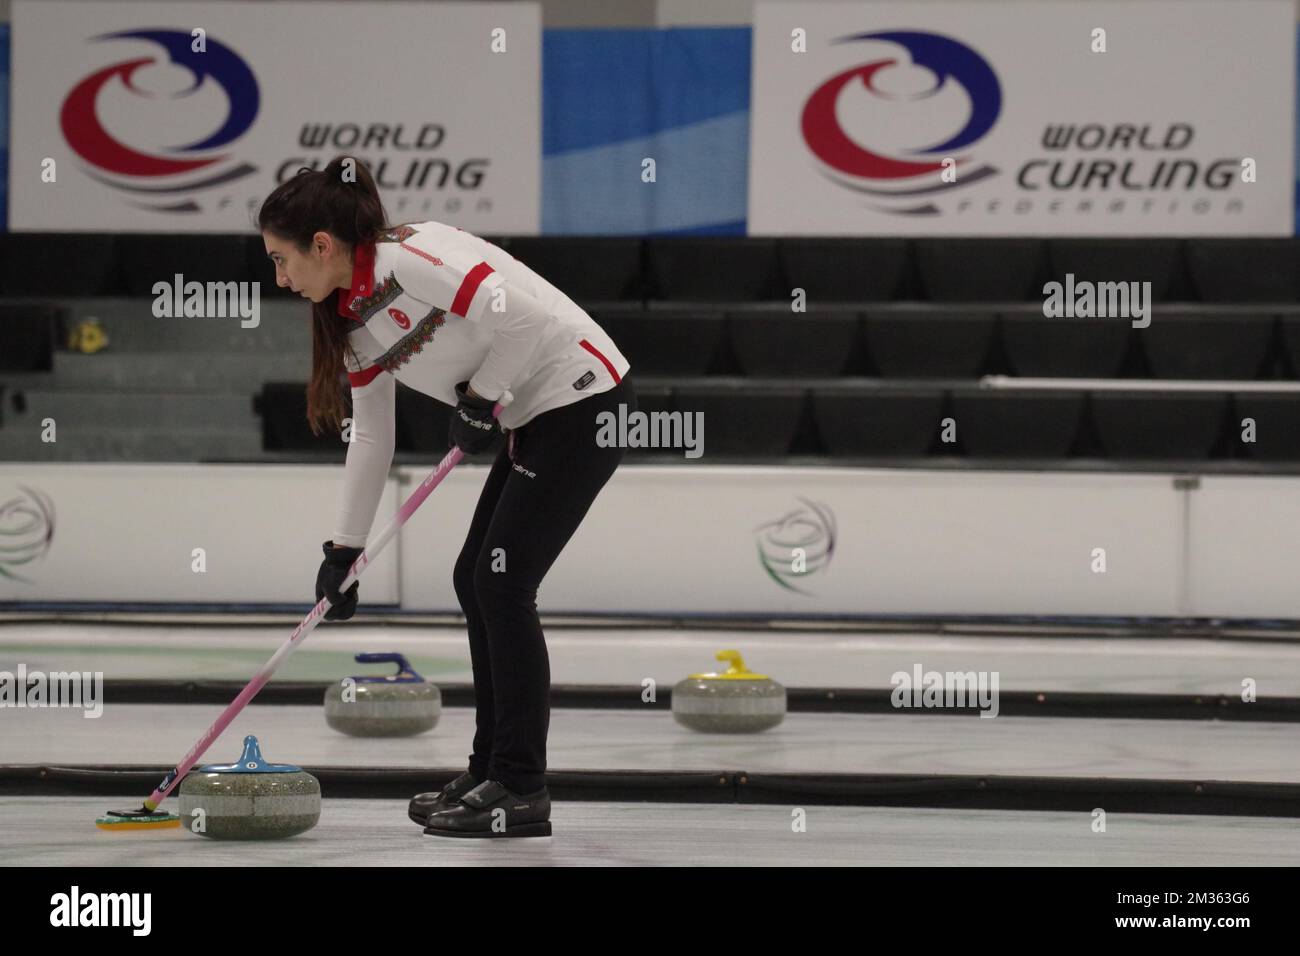
<path fill-rule="evenodd" d="M 749 232 L 1290 235 L 1295 4 L 759 3 Z"/>

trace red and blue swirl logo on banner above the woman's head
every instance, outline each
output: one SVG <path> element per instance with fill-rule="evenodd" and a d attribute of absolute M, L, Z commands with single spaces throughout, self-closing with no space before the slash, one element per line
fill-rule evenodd
<path fill-rule="evenodd" d="M 194 38 L 181 30 L 131 30 L 94 39 L 144 40 L 156 44 L 161 56 L 122 60 L 96 70 L 78 81 L 64 99 L 58 124 L 68 146 L 90 165 L 88 176 L 134 194 L 140 208 L 196 212 L 198 203 L 185 194 L 256 172 L 256 166 L 229 153 L 208 155 L 242 137 L 257 116 L 257 81 L 238 53 L 211 38 L 204 39 L 204 49 L 195 51 Z M 177 68 L 188 73 L 190 86 L 160 92 L 157 85 L 165 85 Z M 150 79 L 155 82 L 151 85 Z M 218 90 L 224 95 L 220 105 Z M 166 101 L 147 103 L 159 99 Z M 136 138 L 150 135 L 146 130 L 195 124 L 203 124 L 204 134 L 178 146 L 136 148 L 109 131 L 103 109 L 109 111 L 116 126 L 133 127 Z M 207 131 L 209 126 L 212 131 Z"/>

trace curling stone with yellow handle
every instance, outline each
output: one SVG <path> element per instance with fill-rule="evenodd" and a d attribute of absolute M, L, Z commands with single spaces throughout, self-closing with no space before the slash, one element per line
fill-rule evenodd
<path fill-rule="evenodd" d="M 672 688 L 672 717 L 705 734 L 757 734 L 785 719 L 785 688 L 745 670 L 737 650 L 719 650 L 722 674 L 692 674 Z"/>

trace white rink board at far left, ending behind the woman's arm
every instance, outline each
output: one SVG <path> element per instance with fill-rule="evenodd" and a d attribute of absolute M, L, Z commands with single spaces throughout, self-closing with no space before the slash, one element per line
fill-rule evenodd
<path fill-rule="evenodd" d="M 29 580 L 0 575 L 0 601 L 300 602 L 306 614 L 341 475 L 276 464 L 0 464 L 0 541 L 31 549 L 49 538 L 40 557 L 4 568 Z M 378 514 L 396 507 L 390 483 Z M 395 546 L 361 585 L 368 601 L 396 602 Z"/>

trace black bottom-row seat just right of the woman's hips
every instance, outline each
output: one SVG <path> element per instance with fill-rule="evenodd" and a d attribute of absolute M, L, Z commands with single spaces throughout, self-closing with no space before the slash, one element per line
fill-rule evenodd
<path fill-rule="evenodd" d="M 677 411 L 703 412 L 703 455 L 784 455 L 803 419 L 807 389 L 690 382 L 673 389 Z M 670 450 L 671 453 L 671 450 Z"/>

